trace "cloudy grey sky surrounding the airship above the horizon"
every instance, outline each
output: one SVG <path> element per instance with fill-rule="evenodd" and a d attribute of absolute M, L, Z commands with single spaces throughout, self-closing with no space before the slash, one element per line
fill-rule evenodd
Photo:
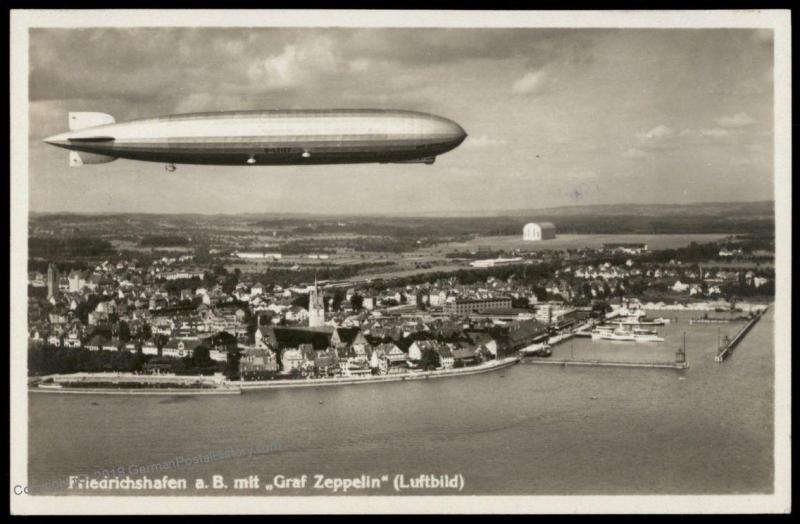
<path fill-rule="evenodd" d="M 443 214 L 773 199 L 773 35 L 748 29 L 32 29 L 35 212 Z M 70 168 L 69 111 L 424 111 L 433 165 Z"/>

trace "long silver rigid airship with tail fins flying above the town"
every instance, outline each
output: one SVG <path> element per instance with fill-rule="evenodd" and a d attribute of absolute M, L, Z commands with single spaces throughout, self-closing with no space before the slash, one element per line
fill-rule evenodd
<path fill-rule="evenodd" d="M 268 110 L 191 113 L 117 123 L 105 113 L 69 113 L 69 132 L 46 138 L 69 165 L 125 158 L 227 166 L 423 163 L 458 147 L 457 123 L 416 111 Z"/>

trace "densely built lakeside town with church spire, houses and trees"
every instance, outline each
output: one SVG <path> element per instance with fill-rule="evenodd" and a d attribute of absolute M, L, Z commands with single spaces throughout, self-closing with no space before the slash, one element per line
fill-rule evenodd
<path fill-rule="evenodd" d="M 531 223 L 522 241 L 546 246 L 561 240 L 555 230 Z M 36 234 L 40 251 L 52 242 L 41 228 Z M 448 370 L 511 356 L 622 304 L 733 310 L 774 294 L 774 244 L 756 235 L 668 249 L 585 242 L 592 247 L 546 250 L 493 247 L 486 237 L 489 247 L 447 248 L 410 271 L 386 272 L 395 262 L 379 255 L 379 276 L 359 274 L 375 271 L 359 262 L 355 274 L 336 280 L 330 277 L 348 266 L 313 265 L 338 255 L 320 254 L 318 245 L 310 254 L 265 248 L 248 255 L 224 243 L 201 249 L 188 239 L 140 238 L 140 245 L 180 248 L 86 252 L 96 246 L 78 238 L 73 245 L 84 252 L 59 259 L 58 246 L 68 244 L 59 239 L 31 263 L 42 268 L 28 281 L 31 375 L 252 381 Z M 291 257 L 309 265 L 287 269 Z M 255 266 L 242 270 L 242 258 L 256 258 Z"/>

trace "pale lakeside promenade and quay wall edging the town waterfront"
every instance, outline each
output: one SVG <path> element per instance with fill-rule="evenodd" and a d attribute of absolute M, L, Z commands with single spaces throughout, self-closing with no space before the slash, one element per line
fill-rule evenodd
<path fill-rule="evenodd" d="M 29 387 L 29 393 L 50 393 L 50 394 L 83 394 L 83 395 L 241 395 L 245 391 L 258 391 L 265 389 L 286 389 L 300 387 L 325 387 L 325 386 L 346 386 L 358 384 L 378 384 L 385 382 L 403 382 L 411 380 L 426 380 L 436 378 L 460 377 L 467 375 L 477 375 L 488 373 L 499 369 L 504 369 L 517 364 L 520 359 L 516 356 L 506 357 L 502 360 L 492 360 L 485 365 L 477 365 L 466 368 L 448 369 L 440 371 L 423 371 L 418 373 L 403 373 L 397 375 L 371 376 L 364 378 L 339 377 L 321 379 L 299 379 L 299 380 L 274 380 L 274 381 L 253 381 L 238 382 L 225 381 L 222 387 L 216 388 L 80 388 L 80 387 L 58 387 L 49 385 L 38 385 Z"/>

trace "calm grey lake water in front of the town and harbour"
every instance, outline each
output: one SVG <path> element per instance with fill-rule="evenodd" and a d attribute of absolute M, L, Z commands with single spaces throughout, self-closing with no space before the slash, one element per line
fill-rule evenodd
<path fill-rule="evenodd" d="M 265 491 L 263 484 L 278 474 L 463 476 L 460 493 L 404 492 L 431 495 L 772 492 L 772 312 L 723 364 L 714 362 L 718 329 L 733 334 L 741 323 L 689 325 L 698 313 L 664 314 L 677 314 L 681 322 L 657 328 L 667 341 L 637 346 L 638 355 L 626 343 L 576 339 L 557 347 L 554 357 L 605 358 L 620 351 L 621 360 L 634 360 L 633 354 L 669 361 L 685 331 L 688 370 L 519 364 L 467 377 L 241 396 L 31 393 L 29 485 L 47 494 L 152 494 L 70 491 L 48 483 L 215 454 L 208 463 L 147 475 L 186 478 L 188 492 L 159 492 L 176 495 L 331 493 Z M 246 449 L 261 451 L 219 456 Z M 213 474 L 226 482 L 258 475 L 262 489 L 193 490 L 195 479 L 210 482 Z M 388 483 L 348 492 L 391 493 Z"/>

